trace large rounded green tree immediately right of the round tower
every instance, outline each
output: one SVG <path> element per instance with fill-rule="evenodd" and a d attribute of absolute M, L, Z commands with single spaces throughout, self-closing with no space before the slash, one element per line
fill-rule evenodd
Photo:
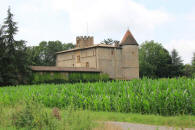
<path fill-rule="evenodd" d="M 140 76 L 169 77 L 171 56 L 163 46 L 154 41 L 144 42 L 139 49 Z"/>

